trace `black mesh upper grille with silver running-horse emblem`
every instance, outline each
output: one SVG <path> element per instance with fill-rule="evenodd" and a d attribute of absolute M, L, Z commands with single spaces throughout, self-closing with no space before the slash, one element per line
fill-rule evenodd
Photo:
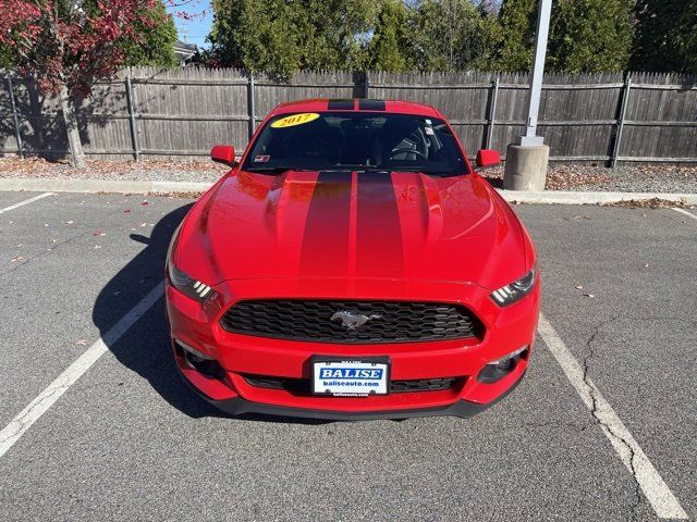
<path fill-rule="evenodd" d="M 337 316 L 341 312 L 348 312 L 345 321 Z M 356 318 L 359 322 L 369 319 L 353 330 L 344 326 Z M 467 308 L 437 302 L 241 301 L 220 323 L 236 334 L 342 344 L 464 339 L 484 334 L 481 322 Z"/>

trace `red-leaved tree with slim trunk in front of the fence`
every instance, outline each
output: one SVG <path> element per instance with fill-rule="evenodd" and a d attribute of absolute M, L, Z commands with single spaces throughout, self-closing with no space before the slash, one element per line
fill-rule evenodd
<path fill-rule="evenodd" d="M 74 166 L 85 165 L 75 100 L 88 96 L 98 79 L 115 74 L 127 60 L 129 46 L 144 42 L 148 32 L 164 23 L 158 4 L 158 0 L 4 0 L 0 46 L 12 50 L 20 71 L 34 76 L 42 92 L 59 97 Z"/>

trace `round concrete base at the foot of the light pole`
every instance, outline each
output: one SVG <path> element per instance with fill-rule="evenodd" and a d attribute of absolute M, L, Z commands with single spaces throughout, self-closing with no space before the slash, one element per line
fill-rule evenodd
<path fill-rule="evenodd" d="M 506 190 L 545 190 L 549 147 L 546 145 L 509 145 L 505 150 L 503 188 Z"/>

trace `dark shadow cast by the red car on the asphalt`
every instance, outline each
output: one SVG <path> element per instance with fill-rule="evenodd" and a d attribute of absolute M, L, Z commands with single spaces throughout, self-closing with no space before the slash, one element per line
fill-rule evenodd
<path fill-rule="evenodd" d="M 93 321 L 102 339 L 121 318 L 162 281 L 170 240 L 191 207 L 192 203 L 184 204 L 163 215 L 152 228 L 150 237 L 131 234 L 131 239 L 145 245 L 145 248 L 107 283 L 93 309 Z M 198 397 L 180 376 L 171 352 L 163 297 L 120 338 L 111 341 L 109 337 L 105 343 L 115 359 L 146 380 L 152 389 L 182 413 L 195 419 L 229 417 Z M 302 424 L 327 422 L 255 414 L 234 419 Z"/>

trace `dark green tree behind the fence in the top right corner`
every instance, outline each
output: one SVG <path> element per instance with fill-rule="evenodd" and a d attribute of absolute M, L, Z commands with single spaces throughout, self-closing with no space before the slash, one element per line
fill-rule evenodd
<path fill-rule="evenodd" d="M 632 67 L 697 74 L 697 0 L 638 0 Z"/>

